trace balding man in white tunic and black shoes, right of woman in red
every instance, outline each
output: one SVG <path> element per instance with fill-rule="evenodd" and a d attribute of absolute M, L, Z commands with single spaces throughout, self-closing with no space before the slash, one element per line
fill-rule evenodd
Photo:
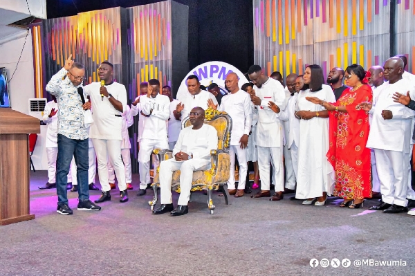
<path fill-rule="evenodd" d="M 410 160 L 412 139 L 412 118 L 414 111 L 403 104 L 394 102 L 393 95 L 405 95 L 409 91 L 415 97 L 415 88 L 402 78 L 403 61 L 398 57 L 387 59 L 383 66 L 385 88 L 380 91 L 376 105 L 369 102 L 360 104 L 365 111 L 373 114 L 367 147 L 374 149 L 380 180 L 382 202 L 369 210 L 383 210 L 385 213 L 407 212 L 407 166 Z"/>

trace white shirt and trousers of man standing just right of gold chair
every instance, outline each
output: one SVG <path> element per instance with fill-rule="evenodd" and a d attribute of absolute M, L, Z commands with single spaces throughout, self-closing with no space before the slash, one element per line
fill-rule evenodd
<path fill-rule="evenodd" d="M 219 111 L 225 111 L 232 118 L 232 131 L 230 134 L 230 177 L 228 180 L 229 190 L 235 189 L 235 154 L 239 163 L 238 190 L 245 189 L 246 174 L 248 173 L 248 161 L 246 160 L 248 149 L 241 149 L 239 140 L 243 135 L 249 135 L 252 109 L 250 95 L 243 90 L 229 93 L 223 96 Z M 249 138 L 248 138 L 249 139 Z"/>

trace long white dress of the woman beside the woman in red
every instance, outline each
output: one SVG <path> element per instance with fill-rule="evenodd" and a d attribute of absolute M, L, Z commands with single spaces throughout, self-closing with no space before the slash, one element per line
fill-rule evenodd
<path fill-rule="evenodd" d="M 313 104 L 306 97 L 317 97 L 335 102 L 331 87 L 323 84 L 320 91 L 299 91 L 297 111 L 324 111 L 320 104 Z M 329 151 L 329 118 L 311 118 L 299 121 L 297 199 L 311 199 L 333 194 L 334 169 L 327 160 Z"/>

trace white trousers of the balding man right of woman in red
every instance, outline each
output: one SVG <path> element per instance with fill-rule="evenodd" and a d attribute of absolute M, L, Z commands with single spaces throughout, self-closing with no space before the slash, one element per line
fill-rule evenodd
<path fill-rule="evenodd" d="M 374 149 L 380 180 L 382 201 L 388 204 L 407 206 L 407 164 L 409 154 L 402 151 Z"/>

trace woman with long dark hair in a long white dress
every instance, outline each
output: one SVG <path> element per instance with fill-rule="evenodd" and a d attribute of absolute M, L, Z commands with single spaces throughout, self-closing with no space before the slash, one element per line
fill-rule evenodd
<path fill-rule="evenodd" d="M 297 97 L 295 116 L 299 122 L 297 199 L 306 199 L 302 204 L 322 206 L 327 195 L 333 193 L 334 169 L 326 154 L 329 150 L 329 114 L 321 105 L 313 104 L 306 97 L 316 97 L 326 102 L 335 102 L 330 86 L 324 84 L 322 68 L 309 65 L 304 71 L 304 84 L 309 89 L 300 91 Z"/>

